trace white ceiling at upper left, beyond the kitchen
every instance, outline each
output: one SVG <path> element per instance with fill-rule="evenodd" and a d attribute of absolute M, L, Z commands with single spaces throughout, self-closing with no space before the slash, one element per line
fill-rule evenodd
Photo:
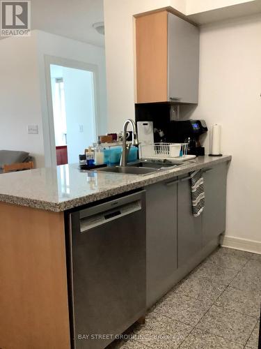
<path fill-rule="evenodd" d="M 103 21 L 103 0 L 31 0 L 31 29 L 104 46 L 93 28 Z"/>

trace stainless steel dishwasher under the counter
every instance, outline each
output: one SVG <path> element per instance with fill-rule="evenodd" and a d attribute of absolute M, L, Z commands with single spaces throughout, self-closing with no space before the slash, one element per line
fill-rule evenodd
<path fill-rule="evenodd" d="M 145 314 L 145 193 L 72 212 L 72 345 L 105 348 Z"/>

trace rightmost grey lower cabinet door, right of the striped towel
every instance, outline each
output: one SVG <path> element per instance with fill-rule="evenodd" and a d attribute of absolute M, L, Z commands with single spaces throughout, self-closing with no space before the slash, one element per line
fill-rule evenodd
<path fill-rule="evenodd" d="M 226 179 L 228 164 L 203 170 L 205 209 L 203 211 L 203 245 L 226 230 Z"/>

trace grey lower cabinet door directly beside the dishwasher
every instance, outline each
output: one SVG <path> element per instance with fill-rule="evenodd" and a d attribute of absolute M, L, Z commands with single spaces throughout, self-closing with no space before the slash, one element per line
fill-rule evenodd
<path fill-rule="evenodd" d="M 147 308 L 174 285 L 177 269 L 177 178 L 146 188 Z"/>

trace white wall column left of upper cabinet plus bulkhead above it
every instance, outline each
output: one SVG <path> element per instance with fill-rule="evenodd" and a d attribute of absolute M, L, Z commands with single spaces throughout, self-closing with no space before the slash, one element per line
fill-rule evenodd
<path fill-rule="evenodd" d="M 248 2 L 260 0 L 104 0 L 109 131 L 120 131 L 127 118 L 134 118 L 134 15 L 168 6 L 185 15 L 193 15 Z M 215 17 L 213 13 L 212 16 Z"/>

